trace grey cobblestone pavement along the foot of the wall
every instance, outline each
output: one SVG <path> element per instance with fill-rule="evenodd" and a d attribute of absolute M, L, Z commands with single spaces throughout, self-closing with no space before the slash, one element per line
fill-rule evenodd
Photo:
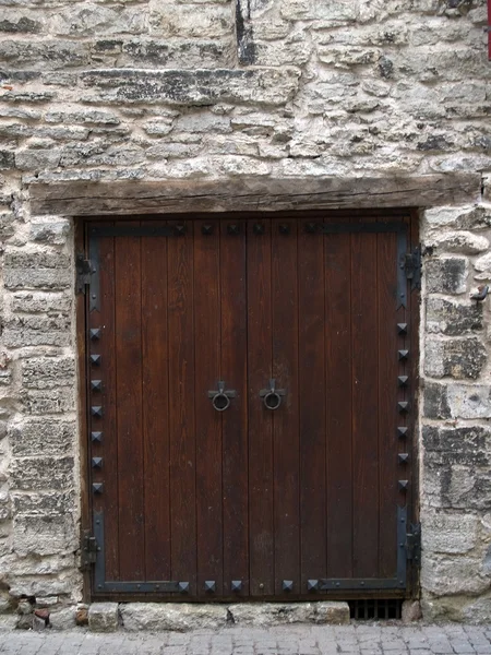
<path fill-rule="evenodd" d="M 491 624 L 228 628 L 189 633 L 0 633 L 9 655 L 450 655 L 490 653 Z"/>

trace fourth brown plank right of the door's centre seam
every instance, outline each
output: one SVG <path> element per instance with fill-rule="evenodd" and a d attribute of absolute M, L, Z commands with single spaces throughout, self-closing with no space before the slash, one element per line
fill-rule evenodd
<path fill-rule="evenodd" d="M 352 576 L 351 235 L 324 237 L 327 576 Z"/>

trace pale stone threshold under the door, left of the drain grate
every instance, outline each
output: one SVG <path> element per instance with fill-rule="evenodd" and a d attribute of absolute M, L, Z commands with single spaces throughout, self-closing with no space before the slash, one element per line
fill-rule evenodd
<path fill-rule="evenodd" d="M 349 607 L 342 602 L 240 605 L 93 603 L 88 607 L 88 629 L 92 632 L 188 632 L 218 630 L 227 626 L 271 628 L 292 623 L 347 624 Z"/>

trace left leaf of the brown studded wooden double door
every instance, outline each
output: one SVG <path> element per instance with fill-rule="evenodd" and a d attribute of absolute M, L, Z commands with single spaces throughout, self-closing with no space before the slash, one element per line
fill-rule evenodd
<path fill-rule="evenodd" d="M 108 222 L 91 224 L 87 238 L 93 594 L 201 598 L 212 582 L 223 596 L 229 579 L 246 593 L 240 226 Z M 208 397 L 221 380 L 236 391 L 224 413 Z M 231 507 L 239 529 L 224 538 Z"/>

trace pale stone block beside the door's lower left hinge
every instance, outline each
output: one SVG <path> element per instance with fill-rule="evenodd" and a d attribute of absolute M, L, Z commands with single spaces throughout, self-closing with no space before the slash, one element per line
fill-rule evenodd
<path fill-rule="evenodd" d="M 65 516 L 14 516 L 13 551 L 28 555 L 63 555 L 79 547 L 71 514 Z"/>

